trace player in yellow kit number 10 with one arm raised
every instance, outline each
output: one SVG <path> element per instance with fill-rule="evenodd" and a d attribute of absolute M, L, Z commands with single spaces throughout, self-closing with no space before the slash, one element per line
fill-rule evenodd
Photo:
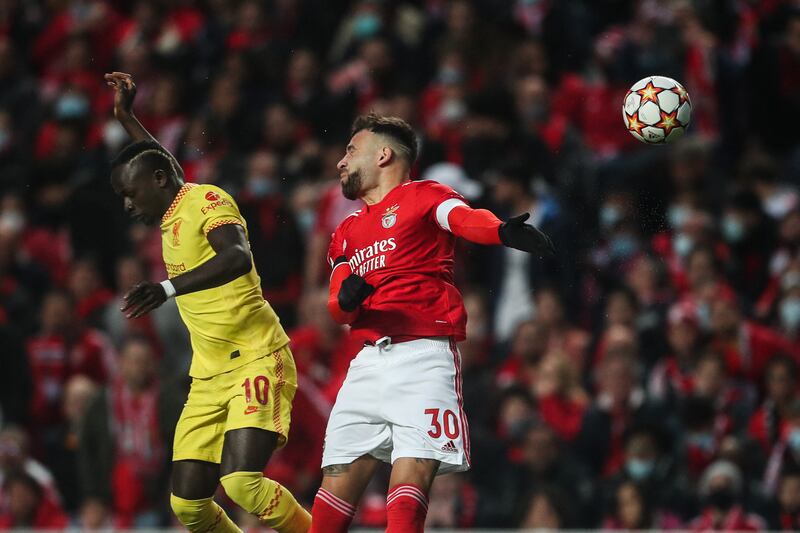
<path fill-rule="evenodd" d="M 311 517 L 262 475 L 286 443 L 297 374 L 289 338 L 264 300 L 247 224 L 213 185 L 184 183 L 175 158 L 132 113 L 136 86 L 106 75 L 114 114 L 137 142 L 112 162 L 111 185 L 136 220 L 160 224 L 168 279 L 142 282 L 122 311 L 142 316 L 175 297 L 192 341 L 192 386 L 175 431 L 170 503 L 192 532 L 241 531 L 213 501 L 230 498 L 280 533 L 304 533 Z"/>

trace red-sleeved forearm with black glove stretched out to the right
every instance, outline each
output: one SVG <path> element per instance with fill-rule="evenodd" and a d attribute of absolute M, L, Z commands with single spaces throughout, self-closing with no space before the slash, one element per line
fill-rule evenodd
<path fill-rule="evenodd" d="M 555 253 L 550 237 L 535 226 L 525 223 L 530 217 L 528 213 L 503 222 L 491 211 L 472 209 L 461 204 L 444 214 L 444 217 L 447 219 L 447 229 L 470 242 L 503 244 L 528 253 Z"/>

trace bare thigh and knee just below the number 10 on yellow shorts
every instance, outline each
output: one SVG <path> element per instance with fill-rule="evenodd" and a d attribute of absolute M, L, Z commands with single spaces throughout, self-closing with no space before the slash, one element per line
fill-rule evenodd
<path fill-rule="evenodd" d="M 258 428 L 228 431 L 222 447 L 220 475 L 264 470 L 278 446 L 278 438 L 277 433 Z"/>

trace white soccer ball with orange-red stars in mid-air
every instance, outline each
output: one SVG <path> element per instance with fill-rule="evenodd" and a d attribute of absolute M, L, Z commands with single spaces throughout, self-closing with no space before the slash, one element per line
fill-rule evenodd
<path fill-rule="evenodd" d="M 683 85 L 665 76 L 633 84 L 622 102 L 622 119 L 631 135 L 648 144 L 670 143 L 683 136 L 692 117 L 692 101 Z"/>

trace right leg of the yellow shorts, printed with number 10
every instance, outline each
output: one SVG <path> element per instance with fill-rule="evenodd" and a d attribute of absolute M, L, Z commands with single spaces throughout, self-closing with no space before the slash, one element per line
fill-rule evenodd
<path fill-rule="evenodd" d="M 228 399 L 226 434 L 245 428 L 258 429 L 277 435 L 275 447 L 286 444 L 297 391 L 294 359 L 288 347 L 228 372 L 224 387 L 220 392 Z"/>

